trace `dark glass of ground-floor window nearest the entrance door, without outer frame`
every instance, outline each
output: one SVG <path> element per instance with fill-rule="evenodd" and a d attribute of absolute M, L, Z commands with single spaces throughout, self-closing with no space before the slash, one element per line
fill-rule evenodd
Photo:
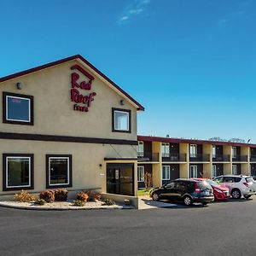
<path fill-rule="evenodd" d="M 49 185 L 69 183 L 69 158 L 49 158 Z"/>

